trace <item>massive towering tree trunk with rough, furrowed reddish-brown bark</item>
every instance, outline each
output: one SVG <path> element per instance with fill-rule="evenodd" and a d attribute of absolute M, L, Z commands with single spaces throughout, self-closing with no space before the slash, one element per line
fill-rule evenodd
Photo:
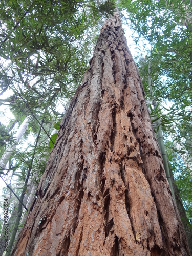
<path fill-rule="evenodd" d="M 120 18 L 107 20 L 13 255 L 189 255 Z"/>

